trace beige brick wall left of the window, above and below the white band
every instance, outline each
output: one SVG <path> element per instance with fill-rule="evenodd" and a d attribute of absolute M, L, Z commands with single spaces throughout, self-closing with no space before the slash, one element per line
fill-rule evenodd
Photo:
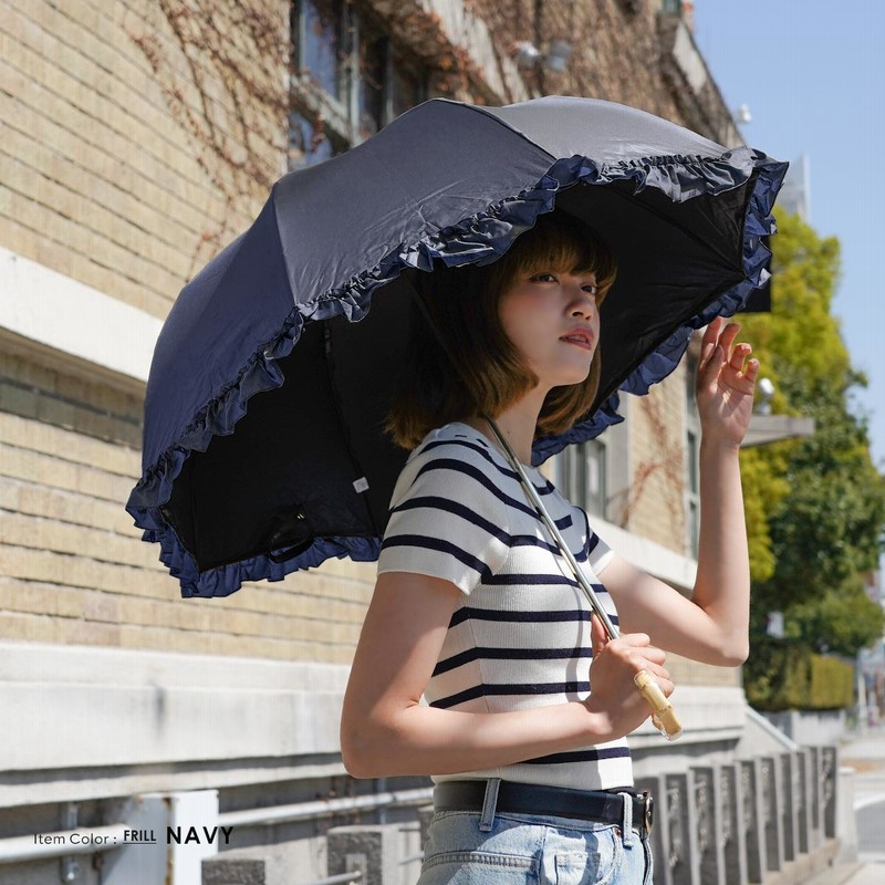
<path fill-rule="evenodd" d="M 271 104 L 233 113 L 237 41 L 221 65 L 204 44 L 218 20 L 184 21 L 184 51 L 165 11 L 187 4 L 0 6 L 0 247 L 165 317 L 284 171 L 284 115 Z M 284 41 L 287 3 L 260 9 Z M 101 336 L 103 316 L 92 323 Z M 143 383 L 105 383 L 87 363 L 22 344 L 0 336 L 0 636 L 350 662 L 371 566 L 334 563 L 185 604 L 123 509 L 140 472 Z"/>

